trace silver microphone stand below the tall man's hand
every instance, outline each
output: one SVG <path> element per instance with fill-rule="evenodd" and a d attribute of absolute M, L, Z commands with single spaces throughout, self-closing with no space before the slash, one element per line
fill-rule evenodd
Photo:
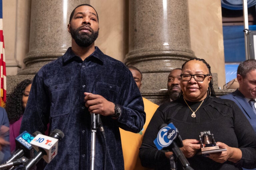
<path fill-rule="evenodd" d="M 91 136 L 91 157 L 90 157 L 91 168 L 90 168 L 90 170 L 94 170 L 96 131 L 100 125 L 100 115 L 92 113 L 91 114 L 91 123 L 92 123 L 92 125 L 91 125 L 92 136 Z"/>

